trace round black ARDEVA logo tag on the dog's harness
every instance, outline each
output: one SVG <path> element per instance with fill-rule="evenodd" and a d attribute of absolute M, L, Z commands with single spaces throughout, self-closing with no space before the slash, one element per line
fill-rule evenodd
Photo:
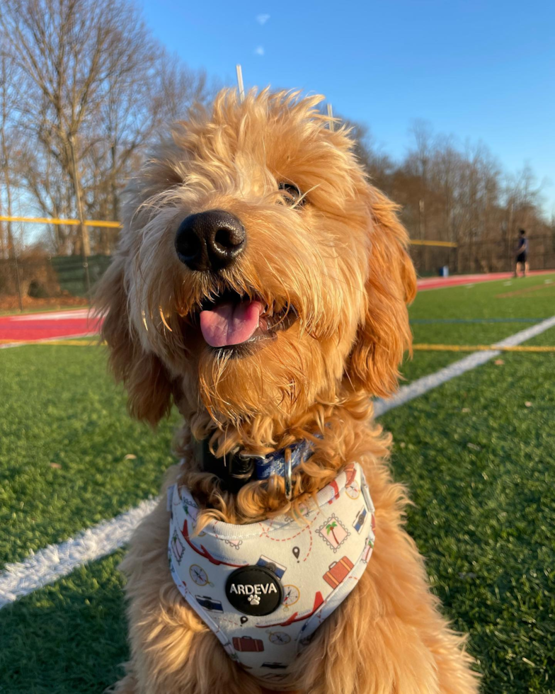
<path fill-rule="evenodd" d="M 226 596 L 239 612 L 263 617 L 280 607 L 283 587 L 280 579 L 266 567 L 241 567 L 227 579 Z"/>

